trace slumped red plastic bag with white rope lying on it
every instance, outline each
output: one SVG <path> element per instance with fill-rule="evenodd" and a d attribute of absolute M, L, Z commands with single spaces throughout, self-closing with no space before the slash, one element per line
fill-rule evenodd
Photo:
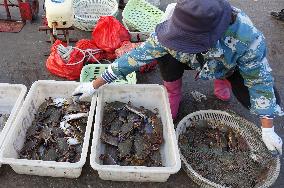
<path fill-rule="evenodd" d="M 60 40 L 56 40 L 51 47 L 51 53 L 46 61 L 46 68 L 52 73 L 69 80 L 76 80 L 80 77 L 83 61 L 81 63 L 65 62 L 57 53 L 57 46 L 63 44 Z M 70 58 L 71 59 L 71 58 Z"/>

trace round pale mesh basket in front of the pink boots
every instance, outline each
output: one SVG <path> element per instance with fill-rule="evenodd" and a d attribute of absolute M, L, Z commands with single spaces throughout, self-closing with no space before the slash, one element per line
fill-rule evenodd
<path fill-rule="evenodd" d="M 264 143 L 261 139 L 260 129 L 253 123 L 240 118 L 236 115 L 229 114 L 227 112 L 222 112 L 219 110 L 202 110 L 198 112 L 191 113 L 184 117 L 178 124 L 176 129 L 177 139 L 179 135 L 183 134 L 186 131 L 186 128 L 191 126 L 193 121 L 197 120 L 217 120 L 222 121 L 224 125 L 231 127 L 235 130 L 238 130 L 243 138 L 246 140 L 250 147 L 250 152 L 252 154 L 261 153 L 262 158 L 265 159 L 265 156 L 269 156 L 269 151 L 266 149 Z M 261 152 L 260 152 L 261 151 Z M 198 174 L 191 165 L 187 162 L 186 158 L 180 153 L 182 168 L 186 171 L 188 176 L 201 187 L 224 187 L 220 184 L 214 183 L 200 174 Z M 259 156 L 258 156 L 259 157 Z M 271 168 L 267 173 L 267 178 L 259 182 L 255 187 L 270 187 L 277 179 L 280 172 L 280 158 L 277 157 L 272 161 Z"/>

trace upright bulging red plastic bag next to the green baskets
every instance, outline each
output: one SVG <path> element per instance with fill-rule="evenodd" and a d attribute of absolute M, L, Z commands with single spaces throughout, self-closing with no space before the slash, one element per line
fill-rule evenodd
<path fill-rule="evenodd" d="M 130 41 L 127 29 L 113 16 L 101 16 L 92 33 L 92 42 L 100 49 L 114 53 L 124 41 Z"/>

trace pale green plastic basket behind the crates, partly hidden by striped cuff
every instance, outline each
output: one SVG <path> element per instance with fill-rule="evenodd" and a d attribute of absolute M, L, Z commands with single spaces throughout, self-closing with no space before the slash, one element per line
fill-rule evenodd
<path fill-rule="evenodd" d="M 89 64 L 83 67 L 80 74 L 80 82 L 91 82 L 100 76 L 107 68 L 109 64 Z M 132 72 L 126 76 L 126 80 L 118 79 L 114 83 L 119 84 L 136 84 L 136 73 Z"/>

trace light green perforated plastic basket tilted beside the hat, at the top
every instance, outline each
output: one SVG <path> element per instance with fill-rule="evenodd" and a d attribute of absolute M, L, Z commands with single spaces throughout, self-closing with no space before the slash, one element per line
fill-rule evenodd
<path fill-rule="evenodd" d="M 153 32 L 164 12 L 144 0 L 129 0 L 122 22 L 130 31 Z"/>

